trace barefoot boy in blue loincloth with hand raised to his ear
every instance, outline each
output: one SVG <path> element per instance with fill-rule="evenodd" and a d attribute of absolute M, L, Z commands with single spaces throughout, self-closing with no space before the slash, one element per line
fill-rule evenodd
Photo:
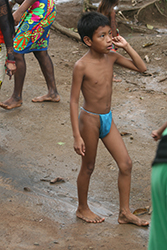
<path fill-rule="evenodd" d="M 82 156 L 82 166 L 77 180 L 79 205 L 76 215 L 86 222 L 104 221 L 104 218 L 94 214 L 87 204 L 89 181 L 94 170 L 100 137 L 119 167 L 118 222 L 147 226 L 149 224 L 147 221 L 139 219 L 129 210 L 132 163 L 110 110 L 113 64 L 117 63 L 139 72 L 146 70 L 145 64 L 123 37 L 113 38 L 113 43 L 124 48 L 132 60 L 111 51 L 110 23 L 108 18 L 101 13 L 85 14 L 78 23 L 78 32 L 82 41 L 89 47 L 89 51 L 75 63 L 70 100 L 74 149 Z M 84 97 L 84 105 L 78 123 L 80 90 Z"/>

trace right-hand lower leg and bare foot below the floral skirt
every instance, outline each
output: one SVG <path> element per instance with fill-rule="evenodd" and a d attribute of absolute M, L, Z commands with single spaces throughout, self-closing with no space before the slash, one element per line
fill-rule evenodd
<path fill-rule="evenodd" d="M 37 58 L 39 65 L 41 67 L 42 73 L 45 77 L 46 84 L 48 87 L 48 94 L 35 97 L 34 99 L 32 99 L 32 101 L 33 102 L 43 102 L 43 101 L 59 102 L 60 96 L 56 88 L 53 63 L 50 59 L 50 56 L 48 55 L 47 50 L 35 51 L 34 55 Z"/>

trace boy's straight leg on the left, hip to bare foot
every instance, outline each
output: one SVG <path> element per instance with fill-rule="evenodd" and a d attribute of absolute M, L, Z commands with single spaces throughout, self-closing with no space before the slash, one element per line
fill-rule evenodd
<path fill-rule="evenodd" d="M 94 214 L 87 203 L 88 189 L 91 174 L 95 166 L 97 145 L 99 140 L 99 116 L 91 115 L 85 111 L 80 114 L 80 133 L 85 143 L 85 156 L 82 157 L 82 165 L 77 179 L 78 209 L 77 217 L 86 222 L 99 223 L 104 218 Z"/>

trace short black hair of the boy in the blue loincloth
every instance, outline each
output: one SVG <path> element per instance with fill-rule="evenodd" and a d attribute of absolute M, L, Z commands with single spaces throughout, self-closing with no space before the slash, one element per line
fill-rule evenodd
<path fill-rule="evenodd" d="M 78 21 L 77 26 L 82 42 L 84 43 L 84 36 L 88 36 L 92 40 L 95 30 L 106 25 L 110 26 L 109 19 L 101 13 L 91 11 L 84 14 Z"/>

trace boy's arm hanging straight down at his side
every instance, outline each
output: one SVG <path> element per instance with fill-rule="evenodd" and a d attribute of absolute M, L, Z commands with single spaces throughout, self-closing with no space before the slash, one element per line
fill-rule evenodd
<path fill-rule="evenodd" d="M 73 79 L 70 97 L 70 117 L 74 137 L 74 150 L 77 154 L 85 155 L 85 144 L 80 135 L 78 122 L 79 95 L 83 81 L 83 65 L 77 62 L 73 70 Z"/>

